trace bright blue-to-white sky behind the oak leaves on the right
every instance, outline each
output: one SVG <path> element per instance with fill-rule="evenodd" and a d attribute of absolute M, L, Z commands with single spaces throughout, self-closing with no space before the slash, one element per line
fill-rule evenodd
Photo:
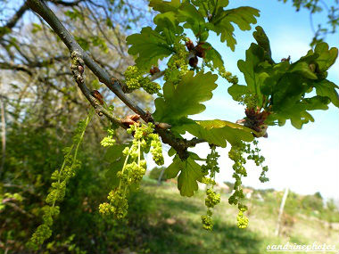
<path fill-rule="evenodd" d="M 332 1 L 325 1 L 328 5 Z M 310 49 L 313 32 L 310 26 L 310 14 L 306 10 L 295 12 L 292 4 L 283 4 L 277 0 L 246 0 L 230 1 L 228 7 L 252 6 L 260 10 L 260 25 L 267 33 L 275 61 L 291 55 L 297 61 Z M 228 8 L 227 7 L 227 8 Z M 313 17 L 314 21 L 326 21 L 326 13 Z M 253 26 L 254 28 L 255 26 Z M 244 84 L 244 77 L 239 72 L 236 62 L 244 59 L 245 50 L 254 42 L 252 31 L 240 31 L 236 28 L 236 51 L 227 48 L 226 43 L 219 42 L 219 37 L 211 35 L 209 41 L 221 53 L 227 70 L 236 74 Z M 339 46 L 339 35 L 327 36 L 328 45 Z M 339 84 L 339 61 L 329 71 L 328 79 Z M 218 88 L 214 91 L 211 101 L 204 103 L 206 111 L 194 119 L 225 119 L 236 121 L 244 117 L 244 106 L 234 102 L 227 88 L 230 86 L 219 78 Z M 269 127 L 269 138 L 260 138 L 261 153 L 269 166 L 269 183 L 261 184 L 258 180 L 260 168 L 248 164 L 247 177 L 243 183 L 255 188 L 285 187 L 302 194 L 320 192 L 325 198 L 339 199 L 339 110 L 330 105 L 328 111 L 312 111 L 315 122 L 295 129 L 288 122 L 284 127 Z M 227 149 L 220 149 L 220 174 L 218 181 L 231 181 L 232 161 L 227 158 Z M 206 156 L 209 152 L 206 144 L 200 144 L 194 152 Z M 171 160 L 166 158 L 166 164 Z M 150 165 L 151 168 L 153 165 Z"/>

